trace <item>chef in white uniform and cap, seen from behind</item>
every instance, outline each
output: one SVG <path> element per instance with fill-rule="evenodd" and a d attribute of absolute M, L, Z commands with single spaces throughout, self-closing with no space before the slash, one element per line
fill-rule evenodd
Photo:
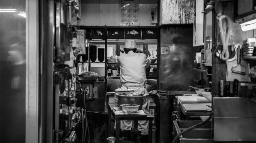
<path fill-rule="evenodd" d="M 135 92 L 149 95 L 145 87 L 147 83 L 145 69 L 150 66 L 151 61 L 143 53 L 136 53 L 135 40 L 128 39 L 124 44 L 124 54 L 117 57 L 117 64 L 120 66 L 122 85 L 128 89 L 134 89 Z M 143 101 L 143 110 L 149 108 L 149 96 Z M 121 121 L 121 130 L 131 130 L 132 121 Z M 148 121 L 138 121 L 138 129 L 141 135 L 148 135 Z"/>

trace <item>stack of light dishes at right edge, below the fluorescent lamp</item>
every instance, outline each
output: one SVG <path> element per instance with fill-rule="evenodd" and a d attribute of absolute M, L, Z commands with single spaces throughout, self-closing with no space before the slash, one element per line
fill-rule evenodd
<path fill-rule="evenodd" d="M 242 55 L 253 56 L 254 44 L 255 44 L 255 38 L 248 38 L 247 40 L 244 40 L 243 46 L 242 46 Z"/>

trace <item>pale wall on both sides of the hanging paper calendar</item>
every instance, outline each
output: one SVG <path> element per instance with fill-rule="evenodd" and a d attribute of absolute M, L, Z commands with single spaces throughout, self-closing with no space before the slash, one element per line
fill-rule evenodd
<path fill-rule="evenodd" d="M 151 8 L 157 7 L 157 0 L 140 0 L 139 26 L 151 25 Z M 81 4 L 81 20 L 78 25 L 119 26 L 119 0 L 84 0 Z"/>

